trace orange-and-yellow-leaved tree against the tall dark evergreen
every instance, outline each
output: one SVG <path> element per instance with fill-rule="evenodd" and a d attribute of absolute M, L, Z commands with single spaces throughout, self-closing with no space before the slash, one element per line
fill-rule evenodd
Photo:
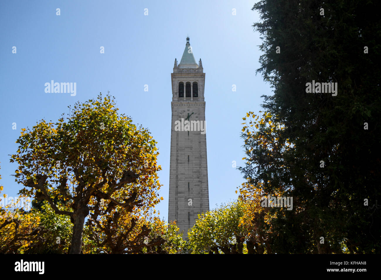
<path fill-rule="evenodd" d="M 243 224 L 249 227 L 257 252 L 314 251 L 314 241 L 309 238 L 314 234 L 314 228 L 306 227 L 309 222 L 305 219 L 305 201 L 293 192 L 294 178 L 289 166 L 294 165 L 295 158 L 288 155 L 295 145 L 289 139 L 280 141 L 284 126 L 275 123 L 275 117 L 268 112 L 259 113 L 247 113 L 243 118 L 245 123 L 242 123 L 247 154 L 243 159 L 247 162 L 238 169 L 245 174 L 247 182 L 242 184 L 239 200 L 248 205 Z M 268 195 L 292 197 L 291 211 L 283 207 L 270 207 L 269 202 L 268 207 L 262 205 Z M 294 223 L 294 220 L 297 221 Z"/>

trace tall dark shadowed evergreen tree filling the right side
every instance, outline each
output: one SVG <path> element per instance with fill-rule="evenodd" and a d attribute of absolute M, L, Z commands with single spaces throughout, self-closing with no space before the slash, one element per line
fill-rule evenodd
<path fill-rule="evenodd" d="M 381 250 L 376 238 L 381 231 L 375 227 L 381 222 L 375 210 L 381 195 L 381 160 L 375 150 L 381 138 L 376 78 L 381 74 L 380 7 L 378 1 L 341 0 L 265 0 L 253 6 L 261 15 L 253 27 L 261 34 L 264 53 L 257 72 L 274 88 L 272 96 L 264 96 L 263 107 L 284 128 L 279 145 L 291 144 L 281 154 L 253 149 L 241 171 L 266 192 L 285 188 L 301 207 L 286 211 L 284 218 L 282 211 L 272 210 L 277 213 L 273 246 L 279 252 Z M 309 93 L 312 81 L 337 83 L 336 92 L 317 88 L 319 92 Z M 364 129 L 365 122 L 370 129 Z M 246 130 L 244 134 L 247 138 Z M 245 143 L 248 150 L 250 144 Z M 265 161 L 268 154 L 271 162 Z M 263 162 L 254 162 L 255 156 Z M 319 242 L 321 237 L 325 243 Z"/>

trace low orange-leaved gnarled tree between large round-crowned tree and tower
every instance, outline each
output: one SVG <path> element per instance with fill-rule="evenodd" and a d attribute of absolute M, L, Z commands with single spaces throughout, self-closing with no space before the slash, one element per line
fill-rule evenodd
<path fill-rule="evenodd" d="M 155 213 L 155 210 L 154 210 Z M 123 208 L 98 217 L 91 214 L 88 237 L 97 253 L 178 253 L 184 241 L 175 224 L 166 224 L 157 216 L 137 216 Z"/>

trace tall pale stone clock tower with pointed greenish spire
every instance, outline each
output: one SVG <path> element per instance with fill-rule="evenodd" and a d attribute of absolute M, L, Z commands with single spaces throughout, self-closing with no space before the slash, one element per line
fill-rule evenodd
<path fill-rule="evenodd" d="M 197 214 L 209 211 L 205 101 L 201 59 L 187 43 L 180 64 L 174 59 L 172 78 L 171 157 L 168 222 L 187 231 Z"/>

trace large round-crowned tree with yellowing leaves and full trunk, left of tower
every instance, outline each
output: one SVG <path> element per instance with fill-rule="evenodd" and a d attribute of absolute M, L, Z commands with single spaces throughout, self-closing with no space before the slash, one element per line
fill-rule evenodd
<path fill-rule="evenodd" d="M 54 213 L 73 224 L 70 253 L 82 250 L 83 226 L 90 212 L 123 208 L 146 212 L 160 201 L 156 164 L 158 152 L 149 131 L 117 114 L 114 98 L 102 94 L 77 102 L 69 118 L 42 120 L 22 129 L 11 162 L 19 164 L 16 182 L 24 195 L 46 200 Z M 58 205 L 54 198 L 65 203 Z"/>

